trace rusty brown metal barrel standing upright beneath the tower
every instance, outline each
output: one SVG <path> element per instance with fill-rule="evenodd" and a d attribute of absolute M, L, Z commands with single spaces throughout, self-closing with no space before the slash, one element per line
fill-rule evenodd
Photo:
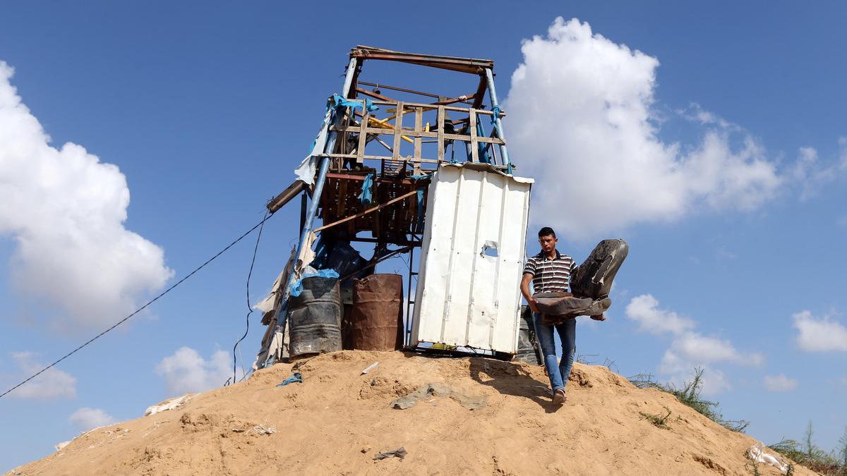
<path fill-rule="evenodd" d="M 353 285 L 352 313 L 346 318 L 345 348 L 396 351 L 403 346 L 403 278 L 371 274 Z"/>

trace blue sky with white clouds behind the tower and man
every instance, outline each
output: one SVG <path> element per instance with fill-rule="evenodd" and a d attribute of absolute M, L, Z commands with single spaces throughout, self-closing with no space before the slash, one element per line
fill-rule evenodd
<path fill-rule="evenodd" d="M 756 438 L 799 438 L 811 421 L 833 448 L 847 426 L 844 5 L 495 2 L 437 21 L 418 7 L 373 19 L 349 7 L 3 5 L 0 61 L 14 68 L 0 78 L 3 390 L 262 219 L 349 48 L 365 44 L 495 60 L 510 155 L 539 179 L 530 249 L 542 224 L 578 261 L 602 238 L 629 241 L 610 319 L 580 322 L 579 353 L 677 382 L 705 366 L 709 397 Z M 28 113 L 9 106 L 9 84 Z M 283 209 L 266 225 L 253 302 L 296 219 Z M 0 400 L 14 429 L 0 435 L 0 468 L 223 383 L 251 254 L 243 241 L 47 383 Z M 86 263 L 97 276 L 75 274 Z"/>

